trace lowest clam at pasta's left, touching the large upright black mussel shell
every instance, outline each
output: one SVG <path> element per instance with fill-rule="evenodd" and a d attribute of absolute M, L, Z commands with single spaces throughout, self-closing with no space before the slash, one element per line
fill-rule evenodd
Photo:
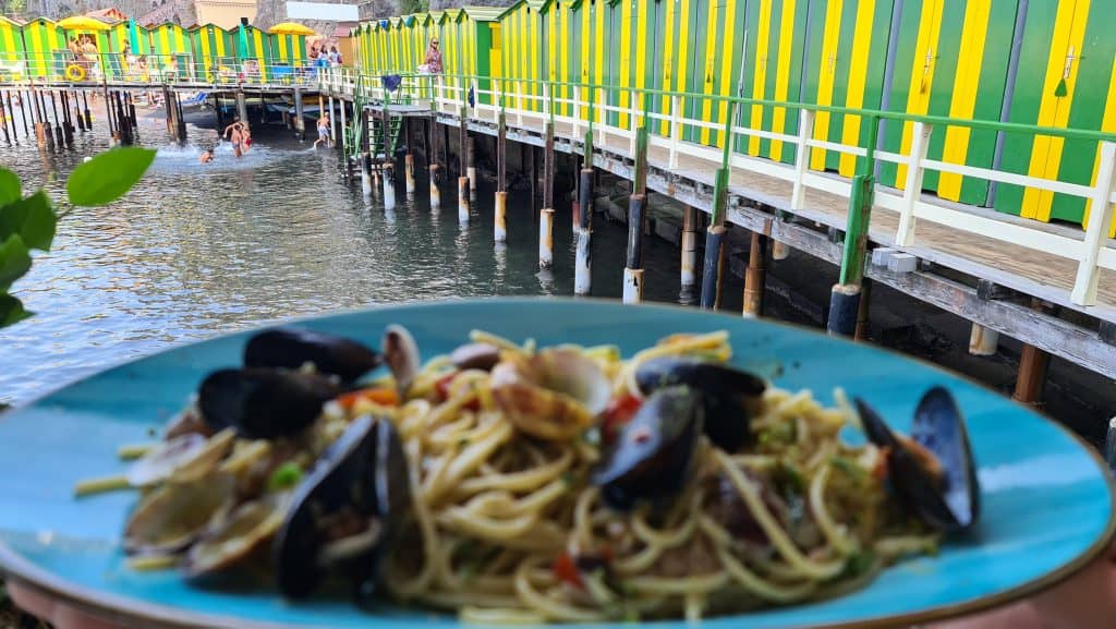
<path fill-rule="evenodd" d="M 183 575 L 193 582 L 210 581 L 260 555 L 282 524 L 288 498 L 287 493 L 271 494 L 218 517 L 186 553 Z"/>

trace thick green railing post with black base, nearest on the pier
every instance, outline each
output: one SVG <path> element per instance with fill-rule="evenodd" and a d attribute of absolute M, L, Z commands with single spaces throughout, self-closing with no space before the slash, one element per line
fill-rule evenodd
<path fill-rule="evenodd" d="M 841 251 L 840 279 L 834 285 L 829 299 L 829 334 L 853 336 L 856 333 L 857 312 L 860 307 L 860 284 L 864 282 L 864 263 L 868 250 L 868 228 L 872 225 L 872 203 L 875 200 L 876 140 L 879 117 L 868 116 L 866 154 L 859 162 L 853 188 L 848 196 L 848 222 Z"/>

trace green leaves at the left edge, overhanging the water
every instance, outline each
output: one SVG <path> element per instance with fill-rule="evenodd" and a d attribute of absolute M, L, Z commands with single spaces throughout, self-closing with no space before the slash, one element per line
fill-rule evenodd
<path fill-rule="evenodd" d="M 119 199 L 154 159 L 155 151 L 145 149 L 114 149 L 97 155 L 78 166 L 66 182 L 70 203 L 104 206 Z M 0 327 L 31 316 L 9 290 L 31 269 L 32 249 L 50 250 L 58 219 L 42 190 L 25 198 L 16 173 L 0 169 Z"/>

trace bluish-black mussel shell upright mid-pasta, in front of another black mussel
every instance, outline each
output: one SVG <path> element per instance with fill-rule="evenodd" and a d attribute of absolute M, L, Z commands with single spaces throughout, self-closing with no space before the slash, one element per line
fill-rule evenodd
<path fill-rule="evenodd" d="M 608 506 L 676 494 L 686 482 L 704 423 L 702 393 L 667 387 L 648 397 L 593 474 Z"/>

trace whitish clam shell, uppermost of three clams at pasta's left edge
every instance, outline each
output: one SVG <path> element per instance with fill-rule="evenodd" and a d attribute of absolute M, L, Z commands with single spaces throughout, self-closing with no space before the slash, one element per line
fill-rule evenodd
<path fill-rule="evenodd" d="M 229 454 L 235 440 L 231 429 L 205 438 L 187 432 L 155 446 L 132 464 L 126 477 L 133 487 L 147 487 L 165 480 L 179 483 L 205 476 Z"/>

